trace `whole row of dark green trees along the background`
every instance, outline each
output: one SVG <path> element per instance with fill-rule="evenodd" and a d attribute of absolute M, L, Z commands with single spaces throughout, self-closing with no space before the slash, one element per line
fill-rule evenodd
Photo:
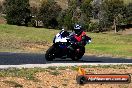
<path fill-rule="evenodd" d="M 41 6 L 32 7 L 29 0 L 5 0 L 4 5 L 7 23 L 17 25 L 64 26 L 72 30 L 73 25 L 79 23 L 86 31 L 102 32 L 108 31 L 114 23 L 126 25 L 132 20 L 132 3 L 124 4 L 123 0 L 99 0 L 95 3 L 93 0 L 68 0 L 68 9 L 63 10 L 55 0 L 43 0 Z"/>

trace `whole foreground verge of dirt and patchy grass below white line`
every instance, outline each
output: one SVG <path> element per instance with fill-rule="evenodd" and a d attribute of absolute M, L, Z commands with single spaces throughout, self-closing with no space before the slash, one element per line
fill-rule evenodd
<path fill-rule="evenodd" d="M 80 66 L 48 67 L 48 68 L 8 68 L 0 70 L 1 88 L 131 88 L 130 84 L 86 84 L 80 86 L 76 83 Z M 132 74 L 132 65 L 84 65 L 86 74 Z M 96 85 L 96 87 L 94 87 Z M 6 86 L 6 87 L 5 87 Z M 106 87 L 107 86 L 107 87 Z M 109 87 L 110 86 L 110 87 Z"/>

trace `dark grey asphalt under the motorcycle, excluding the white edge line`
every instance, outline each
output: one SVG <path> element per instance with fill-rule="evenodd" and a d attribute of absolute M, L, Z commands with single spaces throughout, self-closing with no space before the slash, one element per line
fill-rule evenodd
<path fill-rule="evenodd" d="M 83 56 L 79 61 L 71 59 L 55 59 L 46 61 L 45 54 L 36 53 L 0 53 L 0 65 L 21 65 L 21 64 L 50 64 L 50 63 L 132 63 L 132 59 Z"/>

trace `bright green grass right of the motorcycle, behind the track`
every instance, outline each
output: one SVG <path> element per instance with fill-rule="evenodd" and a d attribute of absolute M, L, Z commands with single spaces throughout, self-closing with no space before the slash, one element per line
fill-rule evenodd
<path fill-rule="evenodd" d="M 92 43 L 86 51 L 94 54 L 106 54 L 120 57 L 132 56 L 132 35 L 88 33 Z"/>

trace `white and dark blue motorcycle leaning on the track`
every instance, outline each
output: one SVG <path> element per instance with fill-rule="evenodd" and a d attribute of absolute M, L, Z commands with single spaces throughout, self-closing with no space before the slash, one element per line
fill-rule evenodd
<path fill-rule="evenodd" d="M 89 44 L 91 38 L 86 37 L 86 44 Z M 69 45 L 73 47 L 73 50 L 68 48 Z M 54 37 L 53 45 L 46 51 L 45 58 L 47 61 L 53 61 L 55 58 L 71 58 L 73 61 L 77 61 L 82 58 L 84 53 L 85 46 L 79 47 L 75 45 L 74 33 L 62 29 Z"/>

